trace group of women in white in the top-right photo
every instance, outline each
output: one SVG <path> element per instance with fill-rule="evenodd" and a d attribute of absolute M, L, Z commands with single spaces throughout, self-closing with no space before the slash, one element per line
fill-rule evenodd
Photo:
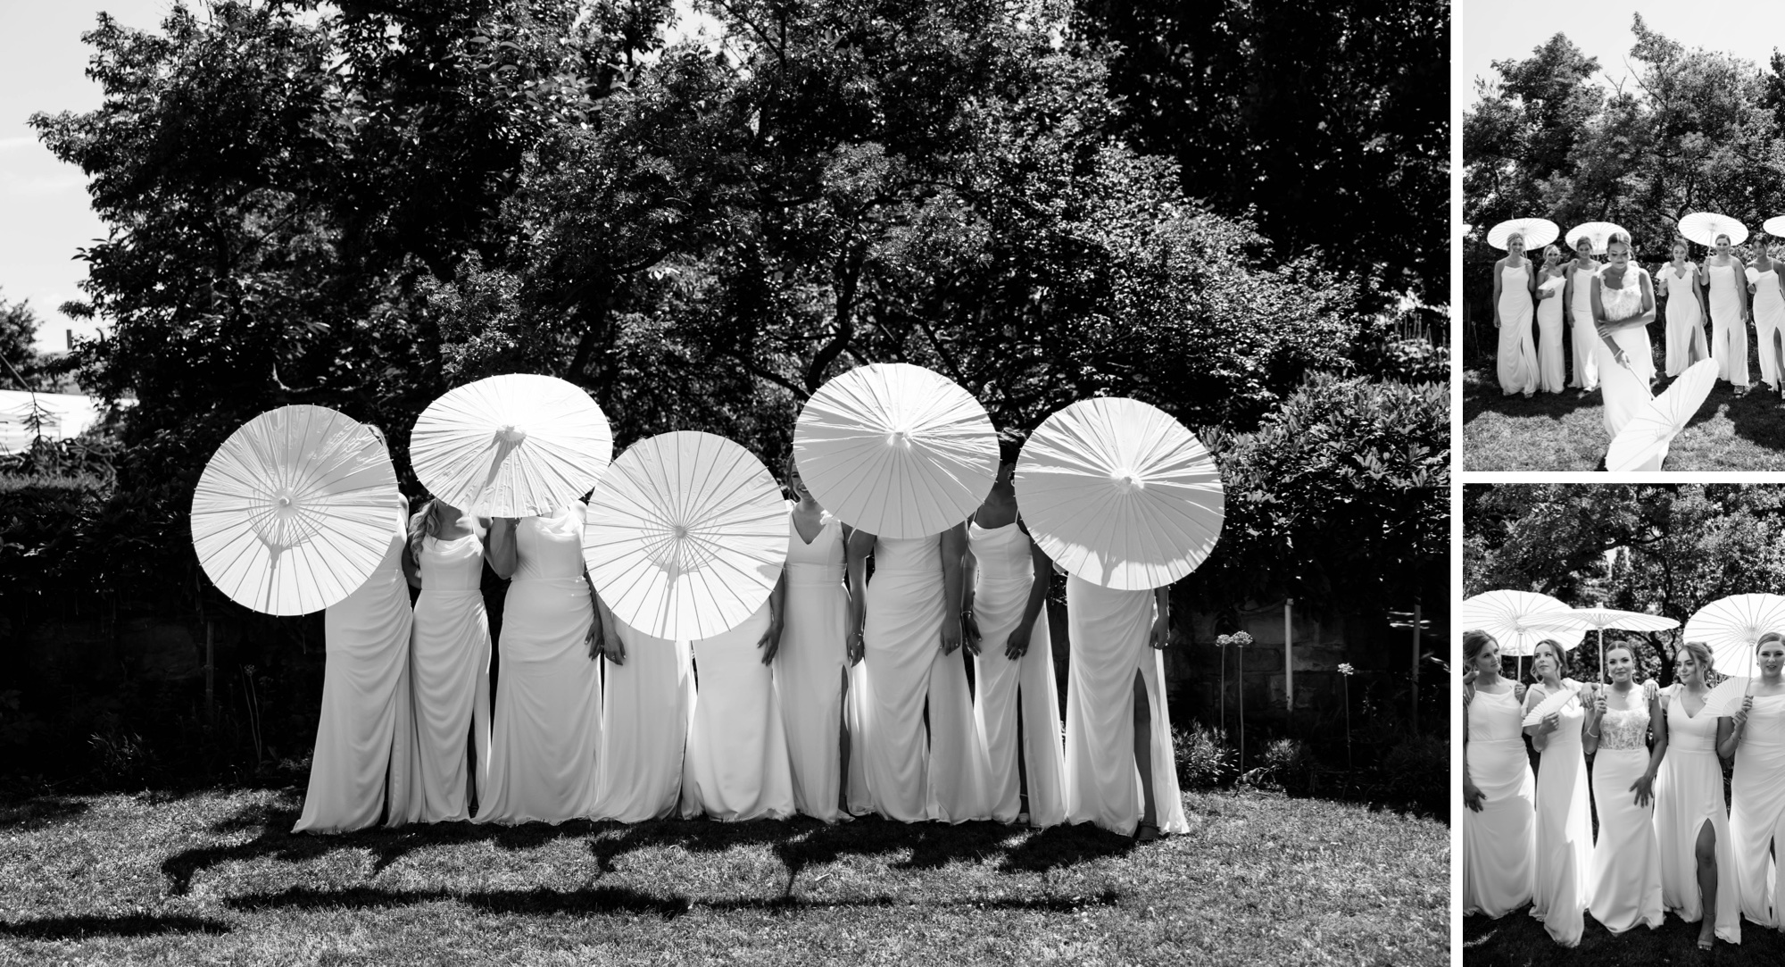
<path fill-rule="evenodd" d="M 1717 378 L 1735 394 L 1748 393 L 1748 326 L 1758 335 L 1760 378 L 1785 398 L 1785 271 L 1773 250 L 1756 239 L 1744 260 L 1717 236 L 1703 262 L 1690 260 L 1687 239 L 1676 237 L 1673 259 L 1653 277 L 1631 262 L 1628 234 L 1605 244 L 1606 262 L 1594 259 L 1594 241 L 1580 236 L 1574 259 L 1542 250 L 1542 266 L 1524 253 L 1524 236 L 1507 239 L 1507 257 L 1494 262 L 1494 326 L 1499 330 L 1499 389 L 1503 394 L 1605 393 L 1605 426 L 1614 437 L 1649 398 L 1655 360 L 1648 325 L 1656 298 L 1665 300 L 1665 373 L 1678 376 L 1701 359 L 1717 360 Z M 1533 337 L 1532 321 L 1537 332 Z M 1710 341 L 1705 323 L 1710 321 Z M 1574 371 L 1564 373 L 1562 341 L 1573 343 Z"/>

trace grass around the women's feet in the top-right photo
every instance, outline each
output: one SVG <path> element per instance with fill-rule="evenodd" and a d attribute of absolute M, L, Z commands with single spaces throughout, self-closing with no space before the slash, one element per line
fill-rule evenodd
<path fill-rule="evenodd" d="M 1649 326 L 1656 373 L 1665 373 L 1658 326 Z M 1753 355 L 1753 348 L 1749 348 Z M 1785 407 L 1760 384 L 1758 357 L 1749 359 L 1748 396 L 1726 382 L 1712 387 L 1698 416 L 1674 437 L 1665 471 L 1785 469 Z M 1662 376 L 1660 394 L 1671 378 Z M 1594 471 L 1605 469 L 1605 401 L 1576 389 L 1503 396 L 1494 360 L 1476 357 L 1462 378 L 1462 469 L 1465 471 Z"/>

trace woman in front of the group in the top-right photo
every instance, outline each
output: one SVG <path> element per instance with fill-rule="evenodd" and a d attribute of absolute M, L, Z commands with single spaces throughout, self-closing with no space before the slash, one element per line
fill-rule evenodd
<path fill-rule="evenodd" d="M 1648 325 L 1655 321 L 1655 287 L 1649 273 L 1630 260 L 1628 234 L 1614 234 L 1605 248 L 1610 262 L 1592 278 L 1592 319 L 1599 328 L 1594 353 L 1605 391 L 1605 432 L 1617 439 L 1651 398 L 1655 357 Z M 1660 469 L 1660 457 L 1640 469 Z"/>

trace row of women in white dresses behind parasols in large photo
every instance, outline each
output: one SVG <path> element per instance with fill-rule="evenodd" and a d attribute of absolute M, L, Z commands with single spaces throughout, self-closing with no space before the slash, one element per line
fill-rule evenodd
<path fill-rule="evenodd" d="M 789 462 L 780 582 L 744 624 L 693 642 L 614 617 L 584 567 L 582 503 L 478 519 L 428 500 L 409 516 L 393 492 L 384 564 L 325 614 L 296 830 L 880 814 L 1185 831 L 1153 653 L 1166 589 L 1067 578 L 1062 744 L 1053 569 L 1014 466 L 1007 446 L 971 519 L 885 539 L 828 514 Z M 511 582 L 494 646 L 486 566 Z"/>

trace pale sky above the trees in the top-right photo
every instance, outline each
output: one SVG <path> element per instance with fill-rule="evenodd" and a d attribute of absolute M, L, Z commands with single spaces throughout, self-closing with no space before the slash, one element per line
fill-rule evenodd
<path fill-rule="evenodd" d="M 1785 46 L 1785 5 L 1776 0 L 1685 0 L 1669 4 L 1582 4 L 1576 0 L 1462 0 L 1462 91 L 1451 91 L 1464 109 L 1474 103 L 1474 80 L 1499 75 L 1494 61 L 1523 61 L 1555 34 L 1567 34 L 1574 46 L 1599 59 L 1599 84 L 1635 77 L 1630 48 L 1633 12 L 1649 30 L 1678 41 L 1687 50 L 1733 54 L 1765 68 L 1774 46 Z M 1626 80 L 1628 89 L 1628 80 Z M 1455 103 L 1455 100 L 1453 100 Z"/>

